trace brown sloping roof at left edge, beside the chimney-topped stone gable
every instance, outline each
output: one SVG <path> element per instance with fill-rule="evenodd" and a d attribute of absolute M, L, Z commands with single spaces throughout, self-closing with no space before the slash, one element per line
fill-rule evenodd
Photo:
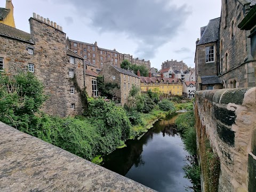
<path fill-rule="evenodd" d="M 29 33 L 0 23 L 0 36 L 10 37 L 34 44 Z"/>

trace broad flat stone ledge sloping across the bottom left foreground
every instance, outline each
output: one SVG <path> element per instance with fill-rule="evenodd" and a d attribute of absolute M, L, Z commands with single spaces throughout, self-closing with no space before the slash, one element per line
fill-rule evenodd
<path fill-rule="evenodd" d="M 0 122 L 0 191 L 154 191 Z"/>

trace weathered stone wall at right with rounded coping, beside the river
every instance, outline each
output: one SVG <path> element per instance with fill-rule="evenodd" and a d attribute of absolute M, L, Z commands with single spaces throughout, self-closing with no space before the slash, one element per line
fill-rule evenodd
<path fill-rule="evenodd" d="M 255 190 L 255 111 L 255 87 L 196 92 L 197 145 L 207 137 L 220 159 L 218 191 Z"/>

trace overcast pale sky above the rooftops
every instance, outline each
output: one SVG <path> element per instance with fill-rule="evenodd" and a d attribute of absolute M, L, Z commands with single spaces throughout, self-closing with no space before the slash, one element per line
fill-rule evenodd
<path fill-rule="evenodd" d="M 200 27 L 220 17 L 221 0 L 12 0 L 16 28 L 29 33 L 33 12 L 57 22 L 70 39 L 151 61 L 194 67 Z M 5 0 L 0 0 L 5 7 Z"/>

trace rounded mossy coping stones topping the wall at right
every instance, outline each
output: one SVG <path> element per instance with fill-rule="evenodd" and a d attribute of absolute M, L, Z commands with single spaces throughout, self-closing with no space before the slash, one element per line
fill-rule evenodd
<path fill-rule="evenodd" d="M 222 104 L 235 103 L 236 105 L 242 105 L 244 100 L 244 95 L 249 90 L 251 91 L 254 90 L 255 92 L 255 87 L 196 91 L 195 95 L 196 97 L 209 99 L 210 101 L 213 101 L 216 103 L 222 103 Z"/>

